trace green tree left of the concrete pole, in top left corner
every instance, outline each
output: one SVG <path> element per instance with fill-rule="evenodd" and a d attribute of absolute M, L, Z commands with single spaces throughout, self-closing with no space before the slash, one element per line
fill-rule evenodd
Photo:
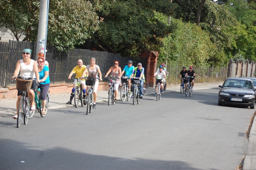
<path fill-rule="evenodd" d="M 13 32 L 17 41 L 36 41 L 39 1 L 0 0 L 0 28 Z M 26 38 L 20 39 L 21 35 Z"/>

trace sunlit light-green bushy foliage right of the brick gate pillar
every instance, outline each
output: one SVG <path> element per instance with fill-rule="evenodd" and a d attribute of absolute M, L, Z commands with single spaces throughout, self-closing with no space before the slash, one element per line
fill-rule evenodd
<path fill-rule="evenodd" d="M 176 29 L 163 39 L 160 59 L 178 61 L 181 65 L 205 65 L 217 50 L 209 33 L 196 24 L 183 23 L 177 19 L 171 21 Z"/>

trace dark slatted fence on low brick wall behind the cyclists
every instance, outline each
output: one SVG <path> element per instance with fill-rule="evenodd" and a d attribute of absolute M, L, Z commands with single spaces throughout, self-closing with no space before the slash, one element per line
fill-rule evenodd
<path fill-rule="evenodd" d="M 26 48 L 32 49 L 31 58 L 36 60 L 36 42 L 11 40 L 9 43 L 0 42 L 0 87 L 6 88 L 9 84 L 15 84 L 15 82 L 11 81 L 11 77 L 14 73 L 17 61 L 22 59 L 22 51 Z M 119 54 L 83 49 L 58 51 L 55 46 L 50 45 L 48 45 L 46 49 L 47 53 L 45 59 L 49 62 L 51 83 L 71 83 L 72 80 L 68 80 L 68 75 L 77 65 L 78 59 L 82 59 L 84 65 L 88 65 L 90 64 L 90 58 L 94 57 L 96 64 L 100 67 L 102 76 L 113 66 L 115 60 L 119 61 L 119 66 L 122 70 L 124 66 L 127 65 L 128 60 L 133 60 L 134 63 L 141 62 L 145 70 L 147 66 L 147 59 L 141 57 L 121 57 Z"/>

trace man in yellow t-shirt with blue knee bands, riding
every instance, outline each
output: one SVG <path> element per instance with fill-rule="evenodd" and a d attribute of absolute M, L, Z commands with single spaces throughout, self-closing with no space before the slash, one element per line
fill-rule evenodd
<path fill-rule="evenodd" d="M 79 59 L 77 61 L 77 66 L 75 66 L 73 68 L 73 70 L 69 74 L 69 80 L 71 79 L 71 76 L 73 74 L 76 74 L 75 75 L 76 78 L 82 77 L 82 74 L 83 74 L 85 68 L 86 68 L 86 66 L 83 65 L 83 61 L 81 59 Z M 86 73 L 86 75 L 87 75 L 87 73 Z M 85 79 L 79 79 L 78 81 L 79 81 L 79 83 L 81 83 L 82 91 L 83 91 L 84 104 L 86 104 L 86 95 L 85 95 L 86 94 L 86 85 L 85 85 Z M 77 80 L 75 80 L 74 83 L 73 83 L 73 89 L 71 91 L 70 100 L 67 102 L 68 105 L 72 104 L 72 100 L 73 100 L 73 98 L 75 96 L 75 87 L 76 86 L 77 86 Z"/>

